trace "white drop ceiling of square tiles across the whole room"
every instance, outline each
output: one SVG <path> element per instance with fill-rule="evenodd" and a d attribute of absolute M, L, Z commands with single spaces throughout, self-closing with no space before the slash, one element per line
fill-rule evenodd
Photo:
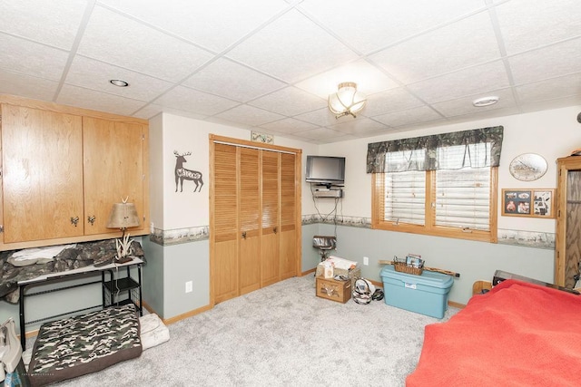
<path fill-rule="evenodd" d="M 0 93 L 316 144 L 581 105 L 579 0 L 0 0 L 0 53 Z"/>

